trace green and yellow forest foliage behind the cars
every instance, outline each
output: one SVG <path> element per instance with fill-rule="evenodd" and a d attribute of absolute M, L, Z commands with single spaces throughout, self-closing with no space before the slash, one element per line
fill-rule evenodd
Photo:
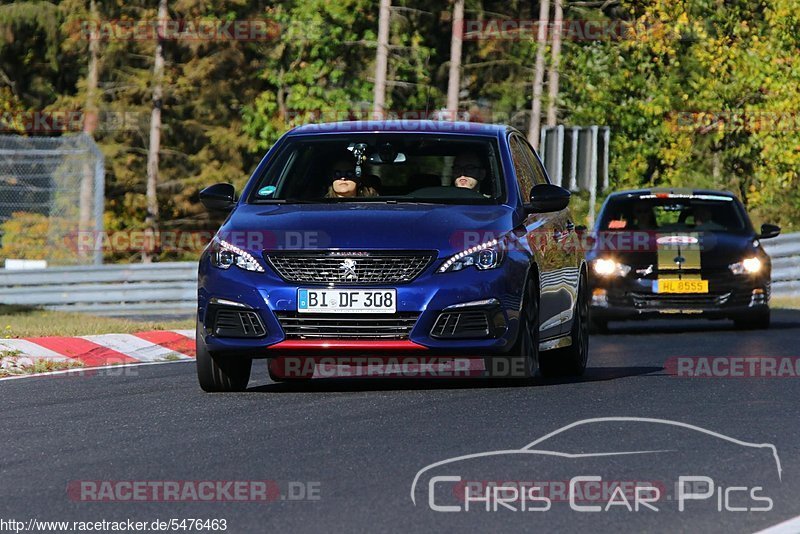
<path fill-rule="evenodd" d="M 0 111 L 85 105 L 88 0 L 0 6 Z M 560 122 L 611 128 L 614 187 L 735 191 L 757 222 L 800 226 L 800 11 L 795 0 L 565 2 L 567 20 L 625 21 L 620 38 L 564 36 Z M 155 20 L 156 2 L 98 2 L 104 21 Z M 241 187 L 291 127 L 371 109 L 378 4 L 370 0 L 171 0 L 174 20 L 270 20 L 261 41 L 165 45 L 159 205 L 164 230 L 212 228 L 198 190 Z M 395 0 L 387 106 L 444 107 L 448 0 Z M 538 3 L 467 0 L 467 20 L 535 20 Z M 536 54 L 527 38 L 464 41 L 460 106 L 526 131 Z M 106 154 L 106 222 L 141 229 L 151 104 L 151 40 L 100 44 L 101 112 L 124 128 L 96 137 Z M 549 54 L 548 54 L 549 56 Z M 167 256 L 163 256 L 167 257 Z M 110 255 L 133 260 L 135 256 Z"/>

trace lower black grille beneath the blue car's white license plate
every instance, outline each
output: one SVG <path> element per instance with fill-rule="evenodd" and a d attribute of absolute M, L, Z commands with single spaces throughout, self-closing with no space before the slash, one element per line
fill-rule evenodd
<path fill-rule="evenodd" d="M 418 313 L 275 314 L 287 339 L 408 339 L 419 318 Z"/>

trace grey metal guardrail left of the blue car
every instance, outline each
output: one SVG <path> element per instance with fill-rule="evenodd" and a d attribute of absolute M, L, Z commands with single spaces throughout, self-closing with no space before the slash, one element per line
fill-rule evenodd
<path fill-rule="evenodd" d="M 0 303 L 95 315 L 192 315 L 197 263 L 0 270 Z"/>

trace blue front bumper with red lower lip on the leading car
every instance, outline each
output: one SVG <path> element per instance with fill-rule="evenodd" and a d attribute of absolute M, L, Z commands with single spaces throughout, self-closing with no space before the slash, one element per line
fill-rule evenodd
<path fill-rule="evenodd" d="M 375 287 L 397 290 L 397 319 L 406 321 L 409 330 L 401 339 L 337 339 L 303 338 L 297 321 L 314 319 L 313 315 L 297 314 L 298 287 L 281 280 L 267 269 L 254 273 L 241 269 L 220 270 L 206 258 L 200 263 L 198 284 L 198 322 L 200 335 L 208 349 L 217 353 L 246 354 L 253 358 L 284 355 L 353 355 L 410 353 L 431 356 L 482 357 L 505 353 L 516 341 L 519 329 L 519 307 L 522 281 L 526 275 L 521 262 L 506 258 L 504 264 L 488 271 L 463 271 L 435 274 L 433 266 L 410 283 Z M 320 287 L 320 286 L 317 286 Z M 340 286 L 337 286 L 339 288 Z M 367 286 L 341 288 L 371 289 Z M 219 301 L 235 302 L 237 309 L 257 315 L 265 333 L 257 337 L 218 335 L 214 317 Z M 481 302 L 466 308 L 465 303 Z M 455 306 L 455 307 L 454 307 Z M 227 308 L 226 308 L 227 309 Z M 452 321 L 442 319 L 445 313 L 471 313 L 471 318 L 485 315 L 485 335 L 458 335 Z M 351 318 L 356 319 L 357 314 Z M 386 314 L 391 320 L 391 314 Z M 465 316 L 467 317 L 467 316 Z M 380 319 L 380 317 L 375 317 Z M 410 322 L 409 322 L 410 321 Z M 391 326 L 391 325 L 389 325 Z M 287 335 L 288 332 L 288 335 Z M 224 333 L 224 332 L 223 332 Z"/>

